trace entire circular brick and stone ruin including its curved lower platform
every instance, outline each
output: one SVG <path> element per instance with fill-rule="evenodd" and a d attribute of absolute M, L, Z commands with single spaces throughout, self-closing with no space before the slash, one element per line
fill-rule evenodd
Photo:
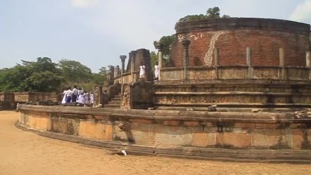
<path fill-rule="evenodd" d="M 129 72 L 110 71 L 107 94 L 96 88 L 104 108 L 23 104 L 16 126 L 130 154 L 310 163 L 311 112 L 294 113 L 311 107 L 309 36 L 309 25 L 278 19 L 179 23 L 160 81 L 138 81 L 137 61 L 150 68 L 150 58 L 134 51 Z"/>

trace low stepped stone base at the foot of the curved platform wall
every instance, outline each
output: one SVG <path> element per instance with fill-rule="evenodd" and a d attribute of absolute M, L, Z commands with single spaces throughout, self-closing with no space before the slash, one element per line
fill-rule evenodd
<path fill-rule="evenodd" d="M 252 150 L 252 149 L 218 149 L 198 147 L 169 147 L 150 144 L 132 144 L 128 142 L 87 139 L 81 136 L 64 135 L 29 127 L 19 121 L 15 122 L 19 129 L 40 136 L 83 145 L 103 147 L 109 150 L 126 150 L 132 155 L 169 156 L 178 158 L 237 161 L 237 162 L 288 162 L 311 163 L 311 150 Z"/>

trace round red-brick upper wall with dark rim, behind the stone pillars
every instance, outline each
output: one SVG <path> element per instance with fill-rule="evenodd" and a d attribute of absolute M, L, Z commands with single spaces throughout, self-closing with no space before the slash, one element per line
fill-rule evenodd
<path fill-rule="evenodd" d="M 260 18 L 226 18 L 180 23 L 171 45 L 171 64 L 183 66 L 182 41 L 189 45 L 189 65 L 214 65 L 214 48 L 219 65 L 246 64 L 251 47 L 252 65 L 279 65 L 279 48 L 284 48 L 285 65 L 305 66 L 310 26 L 293 21 Z"/>

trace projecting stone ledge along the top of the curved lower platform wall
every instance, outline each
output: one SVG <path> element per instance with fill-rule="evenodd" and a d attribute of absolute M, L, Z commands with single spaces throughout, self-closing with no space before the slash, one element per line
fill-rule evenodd
<path fill-rule="evenodd" d="M 239 123 L 245 127 L 251 127 L 254 123 L 264 123 L 266 127 L 271 125 L 288 125 L 301 123 L 303 126 L 310 127 L 311 118 L 297 118 L 292 114 L 284 113 L 238 113 L 238 112 L 202 112 L 202 111 L 168 111 L 168 110 L 122 110 L 91 107 L 63 107 L 63 106 L 32 106 L 21 104 L 18 106 L 23 114 L 48 113 L 49 116 L 56 115 L 64 118 L 79 119 L 109 119 L 129 121 L 134 119 L 145 119 L 150 122 L 157 122 L 168 125 L 187 125 L 185 121 L 193 121 L 197 126 L 202 123 L 210 122 L 215 126 Z M 218 124 L 217 124 L 218 123 Z M 233 126 L 234 127 L 234 126 Z M 298 127 L 293 125 L 293 127 Z"/>

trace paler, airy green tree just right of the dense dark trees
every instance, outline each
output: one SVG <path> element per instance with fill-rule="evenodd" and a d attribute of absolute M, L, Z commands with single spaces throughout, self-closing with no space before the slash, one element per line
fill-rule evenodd
<path fill-rule="evenodd" d="M 92 71 L 86 65 L 79 61 L 62 59 L 58 64 L 61 74 L 70 82 L 90 82 L 92 78 Z"/>

